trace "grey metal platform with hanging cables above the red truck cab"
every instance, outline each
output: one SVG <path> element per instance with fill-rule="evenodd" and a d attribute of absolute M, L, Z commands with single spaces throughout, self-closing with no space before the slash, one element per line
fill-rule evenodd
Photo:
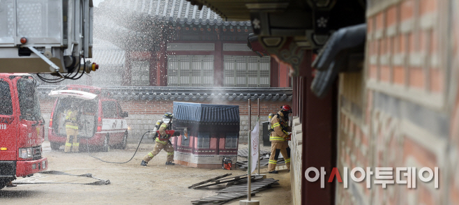
<path fill-rule="evenodd" d="M 92 0 L 0 1 L 0 73 L 57 82 L 95 71 L 92 32 Z"/>

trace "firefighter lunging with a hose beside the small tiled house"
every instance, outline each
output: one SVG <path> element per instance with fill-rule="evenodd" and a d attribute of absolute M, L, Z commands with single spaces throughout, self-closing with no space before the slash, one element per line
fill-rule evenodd
<path fill-rule="evenodd" d="M 166 165 L 175 165 L 174 162 L 174 146 L 170 142 L 170 137 L 172 135 L 167 135 L 166 130 L 172 130 L 172 113 L 166 112 L 163 116 L 163 123 L 161 123 L 159 128 L 159 136 L 156 137 L 155 147 L 153 151 L 144 156 L 144 160 L 140 163 L 142 166 L 146 166 L 148 162 L 153 159 L 161 150 L 167 152 Z"/>

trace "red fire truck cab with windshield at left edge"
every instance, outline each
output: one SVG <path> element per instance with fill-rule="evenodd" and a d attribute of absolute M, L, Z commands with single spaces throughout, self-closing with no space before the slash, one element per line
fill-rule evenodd
<path fill-rule="evenodd" d="M 36 84 L 28 74 L 0 73 L 0 189 L 16 177 L 47 169 Z"/>

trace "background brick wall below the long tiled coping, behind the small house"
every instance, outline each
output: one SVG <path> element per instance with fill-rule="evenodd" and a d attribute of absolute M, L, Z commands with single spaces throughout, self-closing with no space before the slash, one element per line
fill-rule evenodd
<path fill-rule="evenodd" d="M 155 100 L 119 100 L 121 109 L 129 113 L 129 117 L 126 119 L 129 126 L 129 137 L 128 141 L 132 143 L 138 143 L 140 138 L 146 132 L 146 130 L 153 130 L 154 125 L 158 119 L 163 118 L 165 112 L 172 112 L 172 101 L 155 101 Z M 207 103 L 217 105 L 239 105 L 239 114 L 241 116 L 241 130 L 239 131 L 239 139 L 241 141 L 247 140 L 248 137 L 248 101 L 221 101 L 221 100 L 210 100 L 210 101 L 196 101 L 196 103 Z M 285 101 L 265 101 L 260 100 L 260 121 L 267 121 L 269 113 L 276 113 L 280 110 L 280 107 L 285 104 L 290 104 Z M 40 100 L 40 108 L 42 110 L 43 118 L 46 124 L 49 123 L 50 114 L 54 100 L 45 99 Z M 253 101 L 252 105 L 252 130 L 257 122 L 257 101 Z M 143 140 L 142 140 L 143 142 Z M 148 142 L 151 142 L 149 140 Z"/>

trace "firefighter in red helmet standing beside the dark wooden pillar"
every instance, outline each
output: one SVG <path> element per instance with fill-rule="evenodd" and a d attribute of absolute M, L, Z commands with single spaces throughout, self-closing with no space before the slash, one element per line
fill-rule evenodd
<path fill-rule="evenodd" d="M 287 142 L 292 132 L 292 128 L 287 125 L 289 121 L 289 113 L 292 113 L 292 108 L 289 105 L 280 107 L 278 114 L 271 119 L 271 135 L 269 141 L 271 142 L 271 156 L 269 157 L 268 172 L 271 174 L 278 174 L 276 171 L 276 164 L 278 162 L 279 153 L 282 153 L 285 165 L 290 171 L 290 148 Z"/>

